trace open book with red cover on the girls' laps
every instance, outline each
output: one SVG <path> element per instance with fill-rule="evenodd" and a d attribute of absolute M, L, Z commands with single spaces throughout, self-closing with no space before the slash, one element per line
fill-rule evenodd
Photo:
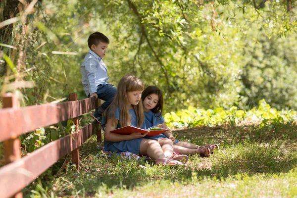
<path fill-rule="evenodd" d="M 169 129 L 163 129 L 160 127 L 149 127 L 148 129 L 141 129 L 138 127 L 132 127 L 132 126 L 126 126 L 126 127 L 121 127 L 117 128 L 115 130 L 110 131 L 110 133 L 117 133 L 117 134 L 122 134 L 122 135 L 130 135 L 131 133 L 148 133 L 149 137 L 159 135 L 161 133 L 164 133 L 168 131 Z"/>

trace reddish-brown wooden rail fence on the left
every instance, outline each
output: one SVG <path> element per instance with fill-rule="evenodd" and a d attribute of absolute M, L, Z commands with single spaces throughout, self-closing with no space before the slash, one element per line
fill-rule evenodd
<path fill-rule="evenodd" d="M 69 95 L 68 102 L 19 107 L 16 96 L 3 97 L 0 110 L 0 142 L 4 145 L 4 163 L 0 168 L 0 198 L 22 198 L 21 190 L 32 183 L 62 156 L 71 152 L 72 162 L 79 169 L 79 147 L 92 135 L 101 141 L 99 122 L 94 121 L 78 128 L 78 116 L 99 106 L 99 100 L 77 100 L 76 94 Z M 40 127 L 50 126 L 64 120 L 73 119 L 76 132 L 21 157 L 18 136 Z"/>

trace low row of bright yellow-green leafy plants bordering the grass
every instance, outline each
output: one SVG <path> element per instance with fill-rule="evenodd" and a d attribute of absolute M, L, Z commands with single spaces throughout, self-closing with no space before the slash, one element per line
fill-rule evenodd
<path fill-rule="evenodd" d="M 236 106 L 229 110 L 223 108 L 203 109 L 189 106 L 188 109 L 171 111 L 164 115 L 166 124 L 169 127 L 196 127 L 196 126 L 215 126 L 221 124 L 230 124 L 235 126 L 241 123 L 259 123 L 260 126 L 267 124 L 285 124 L 297 120 L 295 110 L 277 110 L 271 108 L 264 99 L 259 101 L 259 107 L 250 110 L 240 110 Z"/>

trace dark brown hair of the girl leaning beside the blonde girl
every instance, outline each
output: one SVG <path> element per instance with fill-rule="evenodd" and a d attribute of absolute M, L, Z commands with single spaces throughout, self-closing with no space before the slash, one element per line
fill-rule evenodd
<path fill-rule="evenodd" d="M 163 112 L 163 93 L 158 87 L 151 85 L 143 91 L 141 99 L 144 101 L 151 94 L 156 94 L 159 97 L 157 105 L 151 111 L 153 113 L 160 113 L 158 117 L 161 117 Z"/>

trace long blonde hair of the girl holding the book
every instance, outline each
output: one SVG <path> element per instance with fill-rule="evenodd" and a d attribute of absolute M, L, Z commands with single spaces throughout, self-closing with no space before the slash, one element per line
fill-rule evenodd
<path fill-rule="evenodd" d="M 112 124 L 116 125 L 117 119 L 115 119 L 115 111 L 116 108 L 120 108 L 120 125 L 121 127 L 125 127 L 131 124 L 131 118 L 129 115 L 129 100 L 128 100 L 128 92 L 142 91 L 144 89 L 144 83 L 139 78 L 136 78 L 132 75 L 127 75 L 121 78 L 116 95 L 108 106 L 108 108 L 104 111 L 104 117 L 107 118 L 107 114 L 110 114 L 110 118 L 112 120 Z M 144 110 L 142 100 L 139 100 L 137 105 L 133 105 L 137 116 L 137 127 L 142 127 L 145 119 Z M 106 119 L 107 122 L 107 119 Z M 106 123 L 105 123 L 106 124 Z"/>

